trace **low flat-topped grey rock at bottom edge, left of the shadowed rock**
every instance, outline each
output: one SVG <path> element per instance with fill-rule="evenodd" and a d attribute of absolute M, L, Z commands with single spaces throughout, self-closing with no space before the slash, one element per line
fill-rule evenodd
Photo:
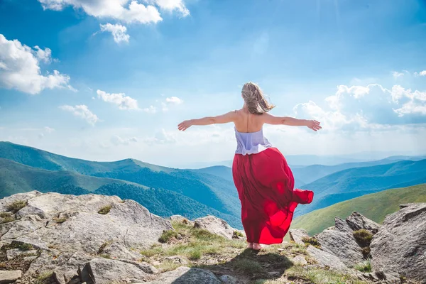
<path fill-rule="evenodd" d="M 82 280 L 94 281 L 97 284 L 107 284 L 113 281 L 122 281 L 126 278 L 137 279 L 139 282 L 146 280 L 148 274 L 156 271 L 148 263 L 137 263 L 132 261 L 120 261 L 107 258 L 94 258 L 89 261 L 82 271 L 87 271 L 87 275 Z"/>

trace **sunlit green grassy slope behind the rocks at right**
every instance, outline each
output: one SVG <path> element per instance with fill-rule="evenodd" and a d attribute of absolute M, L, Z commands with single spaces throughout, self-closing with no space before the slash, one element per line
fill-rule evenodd
<path fill-rule="evenodd" d="M 398 211 L 399 204 L 410 202 L 426 202 L 426 184 L 384 190 L 339 202 L 295 218 L 291 229 L 303 228 L 312 236 L 334 226 L 334 217 L 345 219 L 354 211 L 382 223 L 387 214 Z"/>

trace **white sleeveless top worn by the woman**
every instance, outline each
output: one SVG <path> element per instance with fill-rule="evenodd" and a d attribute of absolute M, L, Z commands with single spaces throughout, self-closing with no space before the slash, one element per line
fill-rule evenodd
<path fill-rule="evenodd" d="M 263 150 L 273 147 L 268 139 L 263 136 L 263 128 L 256 132 L 239 132 L 235 130 L 236 154 L 250 155 L 260 153 Z"/>

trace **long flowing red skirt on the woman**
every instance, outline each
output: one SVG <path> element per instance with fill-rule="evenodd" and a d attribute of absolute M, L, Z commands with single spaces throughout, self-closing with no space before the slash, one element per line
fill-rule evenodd
<path fill-rule="evenodd" d="M 251 155 L 236 154 L 232 174 L 247 241 L 282 243 L 297 204 L 312 202 L 314 192 L 294 189 L 293 173 L 277 148 Z"/>

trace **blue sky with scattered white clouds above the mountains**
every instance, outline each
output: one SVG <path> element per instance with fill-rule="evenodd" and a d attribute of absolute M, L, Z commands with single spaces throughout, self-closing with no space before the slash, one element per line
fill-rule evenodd
<path fill-rule="evenodd" d="M 231 160 L 256 82 L 284 155 L 426 153 L 425 0 L 0 0 L 0 141 L 87 160 Z"/>

